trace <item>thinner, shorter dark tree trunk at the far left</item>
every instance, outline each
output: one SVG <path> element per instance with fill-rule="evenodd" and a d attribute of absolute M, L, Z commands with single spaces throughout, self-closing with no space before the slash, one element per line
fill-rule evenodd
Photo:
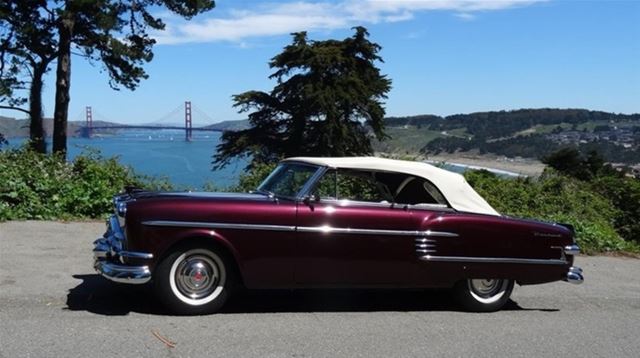
<path fill-rule="evenodd" d="M 42 86 L 46 64 L 36 64 L 33 68 L 31 88 L 29 88 L 29 145 L 38 153 L 46 153 L 44 128 L 42 126 Z"/>

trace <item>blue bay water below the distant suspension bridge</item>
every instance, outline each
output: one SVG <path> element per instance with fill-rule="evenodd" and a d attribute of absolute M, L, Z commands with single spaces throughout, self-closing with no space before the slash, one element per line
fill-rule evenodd
<path fill-rule="evenodd" d="M 127 130 L 91 139 L 70 137 L 68 157 L 71 160 L 86 148 L 94 148 L 104 157 L 119 157 L 122 164 L 132 167 L 136 173 L 166 177 L 180 188 L 200 189 L 206 183 L 227 187 L 237 182 L 247 163 L 235 161 L 221 170 L 212 171 L 212 156 L 220 135 L 194 132 L 191 142 L 184 140 L 184 131 L 180 130 Z M 11 138 L 10 146 L 19 146 L 25 140 Z"/>

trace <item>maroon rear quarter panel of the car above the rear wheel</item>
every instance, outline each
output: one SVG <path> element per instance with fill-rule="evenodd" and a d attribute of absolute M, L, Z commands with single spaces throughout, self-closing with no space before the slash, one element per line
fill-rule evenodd
<path fill-rule="evenodd" d="M 463 258 L 459 262 L 421 260 L 418 280 L 424 285 L 450 286 L 463 278 L 509 278 L 520 284 L 564 279 L 573 263 L 564 264 L 477 263 L 464 258 L 564 259 L 562 248 L 573 243 L 573 234 L 560 225 L 469 213 L 422 216 L 421 230 L 454 232 L 458 237 L 433 237 L 436 257 Z"/>

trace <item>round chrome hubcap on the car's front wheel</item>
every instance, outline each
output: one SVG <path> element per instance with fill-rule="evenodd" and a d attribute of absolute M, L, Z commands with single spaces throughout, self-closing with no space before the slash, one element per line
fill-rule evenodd
<path fill-rule="evenodd" d="M 215 290 L 220 280 L 219 272 L 218 266 L 209 257 L 188 256 L 176 269 L 176 286 L 183 295 L 197 300 Z"/>

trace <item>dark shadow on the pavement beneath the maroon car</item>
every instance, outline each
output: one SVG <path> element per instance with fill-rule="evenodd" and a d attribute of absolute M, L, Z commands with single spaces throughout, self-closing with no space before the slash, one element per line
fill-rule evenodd
<path fill-rule="evenodd" d="M 100 275 L 74 275 L 82 280 L 69 290 L 67 309 L 101 315 L 170 314 L 154 298 L 150 287 L 120 285 Z M 554 309 L 522 308 L 509 300 L 506 311 Z M 460 311 L 446 290 L 244 290 L 235 294 L 220 313 Z"/>

